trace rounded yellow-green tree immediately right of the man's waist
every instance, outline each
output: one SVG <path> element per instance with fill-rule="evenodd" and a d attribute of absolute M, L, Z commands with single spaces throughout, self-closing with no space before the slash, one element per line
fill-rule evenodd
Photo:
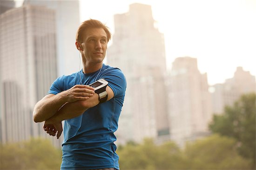
<path fill-rule="evenodd" d="M 155 145 L 152 139 L 143 144 L 127 144 L 118 147 L 119 164 L 122 170 L 169 170 L 182 169 L 182 154 L 172 142 Z"/>

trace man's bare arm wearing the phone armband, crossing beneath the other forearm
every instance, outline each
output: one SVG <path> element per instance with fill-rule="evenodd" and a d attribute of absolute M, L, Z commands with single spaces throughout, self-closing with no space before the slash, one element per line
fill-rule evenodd
<path fill-rule="evenodd" d="M 114 92 L 109 86 L 106 87 L 106 92 L 108 93 L 107 101 L 114 97 Z M 57 111 L 56 114 L 54 114 L 53 117 L 45 121 L 43 128 L 51 136 L 55 136 L 57 132 L 57 138 L 59 138 L 62 132 L 62 120 L 78 117 L 83 114 L 84 111 L 98 105 L 99 103 L 99 95 L 97 93 L 94 93 L 93 97 L 89 98 L 88 100 L 66 103 L 59 111 Z"/>

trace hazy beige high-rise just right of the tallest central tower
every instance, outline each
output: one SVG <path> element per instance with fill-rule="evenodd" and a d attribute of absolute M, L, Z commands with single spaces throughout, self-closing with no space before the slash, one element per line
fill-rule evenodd
<path fill-rule="evenodd" d="M 183 145 L 208 133 L 211 100 L 207 74 L 197 68 L 197 59 L 176 58 L 169 77 L 169 120 L 171 139 Z"/>

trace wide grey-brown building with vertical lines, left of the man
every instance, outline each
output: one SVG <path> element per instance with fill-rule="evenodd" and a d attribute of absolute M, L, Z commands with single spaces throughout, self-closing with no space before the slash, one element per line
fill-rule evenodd
<path fill-rule="evenodd" d="M 57 78 L 55 34 L 52 9 L 26 5 L 0 14 L 2 143 L 47 136 L 32 112 Z"/>

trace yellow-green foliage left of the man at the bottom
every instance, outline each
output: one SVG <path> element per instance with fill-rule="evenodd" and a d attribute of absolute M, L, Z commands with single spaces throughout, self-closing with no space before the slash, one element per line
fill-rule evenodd
<path fill-rule="evenodd" d="M 1 170 L 59 170 L 61 149 L 46 139 L 0 145 Z"/>

